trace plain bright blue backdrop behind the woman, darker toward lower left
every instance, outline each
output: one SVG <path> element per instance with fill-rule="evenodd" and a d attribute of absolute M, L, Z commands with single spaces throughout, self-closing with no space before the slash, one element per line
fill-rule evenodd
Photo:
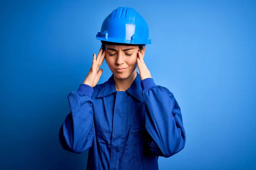
<path fill-rule="evenodd" d="M 160 170 L 256 169 L 256 3 L 242 0 L 65 0 L 0 2 L 1 170 L 84 170 L 58 130 L 67 94 L 90 68 L 96 33 L 115 8 L 145 18 L 152 44 L 145 62 L 175 95 L 184 150 Z M 102 65 L 99 83 L 111 76 Z"/>

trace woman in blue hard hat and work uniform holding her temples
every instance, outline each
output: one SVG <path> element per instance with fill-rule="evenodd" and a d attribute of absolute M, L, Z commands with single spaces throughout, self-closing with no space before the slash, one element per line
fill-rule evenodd
<path fill-rule="evenodd" d="M 158 170 L 158 157 L 182 150 L 186 135 L 175 97 L 155 85 L 143 60 L 151 43 L 148 26 L 134 9 L 120 7 L 96 38 L 102 48 L 79 89 L 68 95 L 71 112 L 60 143 L 73 153 L 89 149 L 87 170 Z M 97 85 L 104 59 L 113 74 Z"/>

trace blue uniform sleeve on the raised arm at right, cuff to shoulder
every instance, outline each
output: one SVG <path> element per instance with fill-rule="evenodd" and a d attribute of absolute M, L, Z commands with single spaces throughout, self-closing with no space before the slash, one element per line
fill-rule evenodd
<path fill-rule="evenodd" d="M 141 86 L 147 109 L 145 126 L 152 138 L 150 149 L 157 156 L 170 157 L 186 143 L 180 107 L 173 94 L 155 85 L 152 78 L 142 80 Z"/>

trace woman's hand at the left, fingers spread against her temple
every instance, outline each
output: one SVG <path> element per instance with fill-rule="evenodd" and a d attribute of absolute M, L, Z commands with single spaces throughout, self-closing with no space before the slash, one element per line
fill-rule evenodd
<path fill-rule="evenodd" d="M 97 85 L 99 82 L 99 78 L 101 77 L 103 70 L 102 68 L 99 69 L 99 67 L 102 65 L 106 52 L 102 52 L 103 50 L 99 50 L 99 54 L 93 54 L 93 65 L 91 66 L 89 73 L 87 74 L 87 77 L 84 79 L 83 84 L 90 85 L 92 88 Z"/>

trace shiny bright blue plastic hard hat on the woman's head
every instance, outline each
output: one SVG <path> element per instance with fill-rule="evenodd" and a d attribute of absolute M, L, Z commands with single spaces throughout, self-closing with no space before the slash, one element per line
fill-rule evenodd
<path fill-rule="evenodd" d="M 148 24 L 133 8 L 119 7 L 102 23 L 96 39 L 125 44 L 151 44 Z"/>

